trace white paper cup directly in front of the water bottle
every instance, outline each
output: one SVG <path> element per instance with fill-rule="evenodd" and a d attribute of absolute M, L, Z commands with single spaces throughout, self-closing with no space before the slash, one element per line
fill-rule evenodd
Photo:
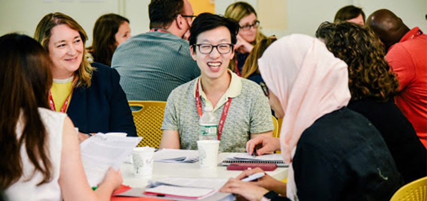
<path fill-rule="evenodd" d="M 219 140 L 197 141 L 197 149 L 201 168 L 215 168 L 218 166 Z"/>

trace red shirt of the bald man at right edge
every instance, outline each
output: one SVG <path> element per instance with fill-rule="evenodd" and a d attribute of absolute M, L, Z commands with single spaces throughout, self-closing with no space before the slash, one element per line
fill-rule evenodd
<path fill-rule="evenodd" d="M 411 29 L 385 57 L 399 80 L 394 101 L 427 148 L 427 35 Z"/>

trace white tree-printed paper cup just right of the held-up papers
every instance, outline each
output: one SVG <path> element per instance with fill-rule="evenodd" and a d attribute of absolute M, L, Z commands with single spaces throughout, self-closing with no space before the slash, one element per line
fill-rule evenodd
<path fill-rule="evenodd" d="M 135 147 L 132 152 L 135 176 L 151 177 L 153 173 L 154 148 Z"/>

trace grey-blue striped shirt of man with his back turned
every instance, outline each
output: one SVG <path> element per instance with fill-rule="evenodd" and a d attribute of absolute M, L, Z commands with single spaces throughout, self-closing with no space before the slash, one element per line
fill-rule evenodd
<path fill-rule="evenodd" d="M 166 101 L 174 88 L 200 75 L 188 41 L 159 31 L 134 36 L 119 45 L 111 67 L 119 72 L 128 100 Z"/>

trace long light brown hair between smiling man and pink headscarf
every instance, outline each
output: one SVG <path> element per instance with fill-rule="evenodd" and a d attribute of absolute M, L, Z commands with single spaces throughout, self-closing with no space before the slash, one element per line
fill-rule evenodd
<path fill-rule="evenodd" d="M 258 69 L 258 59 L 262 56 L 265 49 L 267 49 L 267 47 L 276 40 L 277 38 L 275 36 L 270 36 L 261 40 L 254 46 L 246 59 L 245 65 L 243 65 L 242 77 L 248 78 L 254 73 L 260 74 Z"/>

